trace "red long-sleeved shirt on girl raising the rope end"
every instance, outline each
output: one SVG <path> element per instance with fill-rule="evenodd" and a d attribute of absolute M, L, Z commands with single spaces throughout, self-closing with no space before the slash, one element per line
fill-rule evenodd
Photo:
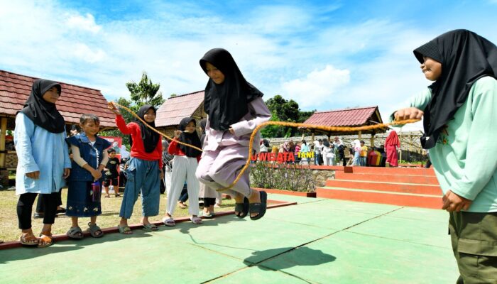
<path fill-rule="evenodd" d="M 145 151 L 143 146 L 143 139 L 141 138 L 141 129 L 135 122 L 126 124 L 123 116 L 116 115 L 116 125 L 123 134 L 131 135 L 133 145 L 131 146 L 131 157 L 139 158 L 142 160 L 158 160 L 159 168 L 162 168 L 162 138 L 159 136 L 159 141 L 155 150 L 151 153 Z"/>

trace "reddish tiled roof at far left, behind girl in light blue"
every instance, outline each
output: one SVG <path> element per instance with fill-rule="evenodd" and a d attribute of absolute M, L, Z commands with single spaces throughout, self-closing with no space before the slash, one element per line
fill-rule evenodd
<path fill-rule="evenodd" d="M 31 94 L 31 87 L 36 79 L 38 78 L 0 70 L 0 115 L 15 116 Z M 59 83 L 62 94 L 57 101 L 57 109 L 66 123 L 79 124 L 81 114 L 96 114 L 99 116 L 100 126 L 116 126 L 115 116 L 107 109 L 107 100 L 99 90 Z"/>

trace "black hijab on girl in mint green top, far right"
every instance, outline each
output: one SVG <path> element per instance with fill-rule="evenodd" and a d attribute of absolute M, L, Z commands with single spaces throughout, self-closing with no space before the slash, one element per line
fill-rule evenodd
<path fill-rule="evenodd" d="M 425 108 L 421 144 L 428 149 L 435 146 L 439 132 L 466 102 L 474 82 L 497 76 L 497 47 L 471 31 L 454 30 L 421 45 L 414 55 L 421 63 L 423 56 L 442 63 L 442 75 L 430 85 L 432 99 Z"/>

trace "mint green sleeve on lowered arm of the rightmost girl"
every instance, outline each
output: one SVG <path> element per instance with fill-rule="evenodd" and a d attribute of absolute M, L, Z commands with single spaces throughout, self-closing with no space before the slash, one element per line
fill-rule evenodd
<path fill-rule="evenodd" d="M 497 80 L 484 77 L 474 83 L 471 99 L 471 127 L 467 133 L 464 175 L 452 191 L 474 200 L 497 170 Z"/>

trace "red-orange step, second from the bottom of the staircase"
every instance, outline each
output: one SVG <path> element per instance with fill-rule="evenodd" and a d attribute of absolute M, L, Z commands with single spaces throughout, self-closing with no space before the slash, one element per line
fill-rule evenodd
<path fill-rule="evenodd" d="M 378 190 L 389 192 L 417 193 L 422 195 L 439 195 L 442 190 L 438 185 L 414 185 L 405 183 L 368 182 L 354 180 L 327 180 L 327 187 L 342 187 L 358 190 Z"/>

